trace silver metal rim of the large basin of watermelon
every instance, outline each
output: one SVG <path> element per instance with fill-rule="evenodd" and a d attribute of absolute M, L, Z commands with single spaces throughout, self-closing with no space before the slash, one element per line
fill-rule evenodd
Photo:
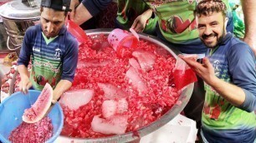
<path fill-rule="evenodd" d="M 95 34 L 106 34 L 108 35 L 112 29 L 95 29 L 85 31 L 87 35 L 95 35 Z M 157 37 L 149 36 L 146 34 L 139 34 L 141 39 L 146 41 L 150 41 L 155 43 L 156 45 L 165 48 L 168 52 L 172 54 L 173 57 L 177 58 L 178 52 L 176 49 L 172 47 L 167 47 L 163 42 L 161 42 Z M 187 101 L 189 101 L 194 84 L 188 85 L 186 88 L 182 90 L 181 96 L 179 97 L 178 101 L 182 101 L 181 104 L 174 105 L 171 110 L 167 111 L 165 115 L 161 116 L 160 119 L 157 121 L 152 122 L 148 126 L 144 126 L 138 131 L 127 132 L 123 135 L 117 136 L 110 136 L 105 138 L 97 138 L 97 139 L 85 139 L 85 138 L 74 138 L 69 136 L 59 136 L 56 142 L 129 142 L 129 141 L 136 141 L 142 136 L 146 136 L 150 134 L 152 131 L 156 131 L 161 126 L 164 126 L 167 122 L 171 121 L 175 116 L 177 116 L 183 108 L 187 105 Z"/>

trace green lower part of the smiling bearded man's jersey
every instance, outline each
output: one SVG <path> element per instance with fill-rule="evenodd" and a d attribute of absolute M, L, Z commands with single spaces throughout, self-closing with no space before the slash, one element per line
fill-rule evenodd
<path fill-rule="evenodd" d="M 230 81 L 230 80 L 227 80 Z M 254 112 L 243 111 L 232 106 L 222 96 L 212 90 L 211 86 L 205 85 L 206 97 L 202 114 L 202 122 L 207 128 L 216 130 L 252 128 L 256 126 Z M 241 120 L 243 116 L 244 120 Z"/>

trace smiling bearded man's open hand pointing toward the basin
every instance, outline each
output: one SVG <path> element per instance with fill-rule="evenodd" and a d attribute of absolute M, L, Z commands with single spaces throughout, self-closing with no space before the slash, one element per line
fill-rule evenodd
<path fill-rule="evenodd" d="M 202 59 L 202 64 L 196 62 L 190 57 L 187 58 L 182 55 L 179 55 L 179 57 L 181 57 L 182 60 L 184 60 L 184 62 L 187 62 L 187 65 L 191 67 L 192 70 L 196 72 L 198 76 L 202 77 L 202 80 L 207 82 L 208 85 L 214 85 L 218 77 L 215 76 L 212 64 L 209 62 L 207 57 L 204 57 Z"/>

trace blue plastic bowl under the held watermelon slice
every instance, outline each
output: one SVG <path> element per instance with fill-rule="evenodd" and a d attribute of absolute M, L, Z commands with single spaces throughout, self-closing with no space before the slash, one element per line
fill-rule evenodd
<path fill-rule="evenodd" d="M 8 137 L 11 131 L 23 122 L 23 112 L 30 107 L 29 100 L 33 104 L 38 99 L 41 91 L 29 90 L 29 93 L 28 95 L 23 95 L 21 92 L 13 93 L 12 96 L 8 96 L 0 104 L 0 140 L 4 143 L 10 142 L 8 141 Z M 48 116 L 54 126 L 54 135 L 46 141 L 47 143 L 51 143 L 59 136 L 64 124 L 64 114 L 59 103 L 55 104 Z"/>

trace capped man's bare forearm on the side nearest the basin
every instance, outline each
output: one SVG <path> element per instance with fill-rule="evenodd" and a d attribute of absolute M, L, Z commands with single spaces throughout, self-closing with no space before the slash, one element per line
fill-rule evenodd
<path fill-rule="evenodd" d="M 68 80 L 60 80 L 54 89 L 54 101 L 58 101 L 59 97 L 62 96 L 65 91 L 68 91 L 71 86 L 72 82 Z"/>

